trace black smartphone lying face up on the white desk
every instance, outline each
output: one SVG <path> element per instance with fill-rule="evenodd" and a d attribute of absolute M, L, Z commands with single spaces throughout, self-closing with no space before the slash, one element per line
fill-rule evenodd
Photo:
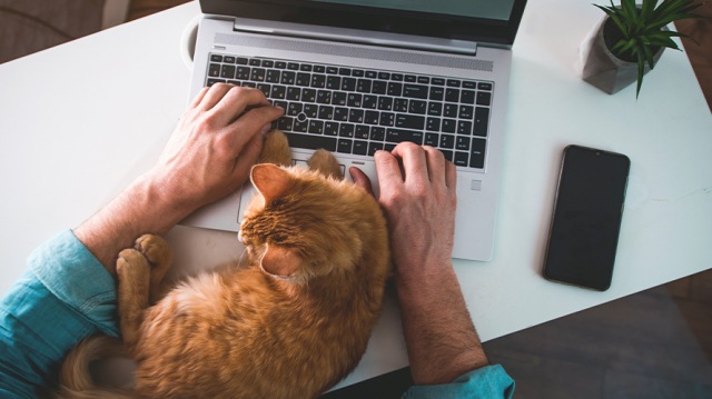
<path fill-rule="evenodd" d="M 544 260 L 544 278 L 599 291 L 611 287 L 631 160 L 564 149 Z"/>

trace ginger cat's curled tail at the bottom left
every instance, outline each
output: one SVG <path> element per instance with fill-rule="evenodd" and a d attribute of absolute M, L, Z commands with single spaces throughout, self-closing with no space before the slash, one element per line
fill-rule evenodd
<path fill-rule="evenodd" d="M 89 365 L 92 361 L 111 357 L 126 357 L 123 342 L 118 338 L 92 336 L 79 342 L 65 357 L 55 399 L 131 398 L 129 390 L 98 386 L 91 378 Z"/>

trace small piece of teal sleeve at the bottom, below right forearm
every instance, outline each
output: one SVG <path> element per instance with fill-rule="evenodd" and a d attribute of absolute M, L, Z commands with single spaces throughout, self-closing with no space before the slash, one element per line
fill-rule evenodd
<path fill-rule="evenodd" d="M 514 395 L 514 380 L 500 365 L 464 373 L 451 383 L 411 387 L 402 399 L 502 399 Z"/>

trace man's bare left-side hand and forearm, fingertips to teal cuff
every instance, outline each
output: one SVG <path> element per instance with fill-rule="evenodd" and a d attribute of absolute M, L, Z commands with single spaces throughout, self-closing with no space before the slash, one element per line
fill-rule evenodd
<path fill-rule="evenodd" d="M 196 209 L 240 187 L 259 156 L 263 133 L 283 113 L 256 89 L 225 83 L 204 89 L 158 163 L 75 235 L 113 275 L 119 251 L 138 237 L 165 235 Z"/>

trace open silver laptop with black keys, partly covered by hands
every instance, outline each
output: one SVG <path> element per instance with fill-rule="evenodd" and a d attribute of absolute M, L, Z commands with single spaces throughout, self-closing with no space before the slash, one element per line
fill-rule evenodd
<path fill-rule="evenodd" d="M 457 167 L 453 257 L 493 257 L 511 47 L 526 0 L 200 0 L 190 99 L 231 82 L 283 107 L 294 163 L 318 148 L 363 170 L 377 150 L 438 148 Z M 348 172 L 345 173 L 348 179 Z M 246 183 L 181 225 L 238 231 Z"/>

